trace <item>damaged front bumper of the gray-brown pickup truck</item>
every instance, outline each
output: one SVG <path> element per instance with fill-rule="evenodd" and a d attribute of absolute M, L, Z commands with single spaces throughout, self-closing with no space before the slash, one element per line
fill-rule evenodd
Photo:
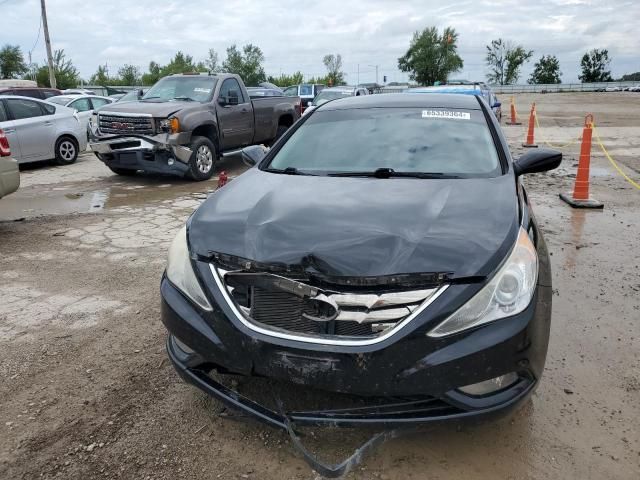
<path fill-rule="evenodd" d="M 193 151 L 190 132 L 158 135 L 100 135 L 89 127 L 89 147 L 107 166 L 184 175 Z"/>

